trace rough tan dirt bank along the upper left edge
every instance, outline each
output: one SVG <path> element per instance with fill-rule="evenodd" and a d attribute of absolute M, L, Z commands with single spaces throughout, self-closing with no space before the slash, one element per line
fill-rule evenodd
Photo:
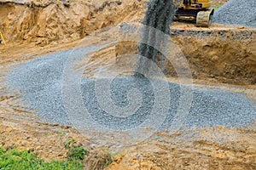
<path fill-rule="evenodd" d="M 6 41 L 40 45 L 78 40 L 125 20 L 141 20 L 143 1 L 30 1 L 0 3 L 0 30 Z"/>

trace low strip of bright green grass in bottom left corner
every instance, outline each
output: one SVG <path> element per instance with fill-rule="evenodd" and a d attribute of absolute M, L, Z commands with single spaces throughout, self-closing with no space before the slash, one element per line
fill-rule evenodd
<path fill-rule="evenodd" d="M 80 156 L 80 155 L 79 155 Z M 3 149 L 0 147 L 0 170 L 59 170 L 82 169 L 81 161 L 70 157 L 66 161 L 45 162 L 27 151 Z"/>

